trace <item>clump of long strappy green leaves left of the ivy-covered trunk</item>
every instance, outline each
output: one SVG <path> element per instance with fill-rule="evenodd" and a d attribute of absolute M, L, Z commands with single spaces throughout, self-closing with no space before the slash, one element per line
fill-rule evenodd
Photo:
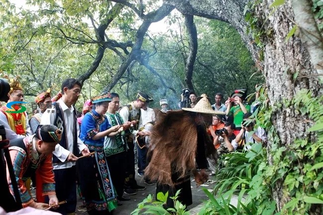
<path fill-rule="evenodd" d="M 253 144 L 248 152 L 226 154 L 220 162 L 226 164 L 215 177 L 215 197 L 204 190 L 210 200 L 199 215 L 271 215 L 275 211 L 270 190 L 261 180 L 267 165 L 261 144 Z"/>

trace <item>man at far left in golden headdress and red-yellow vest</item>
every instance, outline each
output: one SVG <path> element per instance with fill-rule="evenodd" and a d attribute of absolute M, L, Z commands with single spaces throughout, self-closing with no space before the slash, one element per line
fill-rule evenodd
<path fill-rule="evenodd" d="M 9 80 L 10 91 L 8 92 L 8 103 L 9 102 L 22 102 L 23 101 L 23 90 L 16 79 L 9 78 L 7 75 L 4 76 Z M 20 109 L 20 104 L 14 104 L 10 108 L 3 105 L 0 108 L 0 124 L 4 126 L 7 140 L 14 140 L 16 138 L 24 138 L 31 135 L 28 114 L 26 111 L 22 113 L 8 113 L 7 111 L 17 111 Z"/>

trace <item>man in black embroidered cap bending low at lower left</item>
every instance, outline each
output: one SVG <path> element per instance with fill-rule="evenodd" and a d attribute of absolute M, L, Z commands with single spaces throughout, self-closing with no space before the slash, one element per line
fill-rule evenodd
<path fill-rule="evenodd" d="M 61 137 L 62 131 L 56 126 L 45 125 L 39 126 L 33 136 L 10 141 L 9 153 L 23 207 L 46 209 L 50 205 L 58 204 L 55 193 L 52 153 Z M 8 167 L 6 169 L 9 189 L 13 193 Z M 37 186 L 37 191 L 41 189 L 40 195 L 49 197 L 49 204 L 39 201 L 39 192 L 36 194 L 37 202 L 29 194 L 25 181 L 34 174 L 38 175 L 37 180 L 42 185 Z"/>

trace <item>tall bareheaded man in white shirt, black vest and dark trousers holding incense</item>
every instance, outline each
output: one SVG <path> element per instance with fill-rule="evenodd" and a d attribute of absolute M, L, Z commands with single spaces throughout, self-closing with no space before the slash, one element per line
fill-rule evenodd
<path fill-rule="evenodd" d="M 68 78 L 62 83 L 62 98 L 42 115 L 41 125 L 55 125 L 62 130 L 62 139 L 53 152 L 53 166 L 58 200 L 67 201 L 57 210 L 63 215 L 74 214 L 77 205 L 75 154 L 88 155 L 89 150 L 79 138 L 80 128 L 73 106 L 79 99 L 81 83 Z"/>

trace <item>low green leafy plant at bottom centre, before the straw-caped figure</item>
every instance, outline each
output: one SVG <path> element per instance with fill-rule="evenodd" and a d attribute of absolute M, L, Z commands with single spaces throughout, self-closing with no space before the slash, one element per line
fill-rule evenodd
<path fill-rule="evenodd" d="M 148 195 L 141 203 L 138 204 L 138 208 L 134 210 L 131 215 L 189 215 L 186 211 L 186 207 L 177 201 L 180 190 L 178 190 L 174 197 L 170 197 L 174 201 L 174 208 L 168 208 L 167 210 L 163 206 L 167 202 L 168 192 L 166 194 L 158 193 L 157 200 L 153 201 L 154 196 Z"/>

